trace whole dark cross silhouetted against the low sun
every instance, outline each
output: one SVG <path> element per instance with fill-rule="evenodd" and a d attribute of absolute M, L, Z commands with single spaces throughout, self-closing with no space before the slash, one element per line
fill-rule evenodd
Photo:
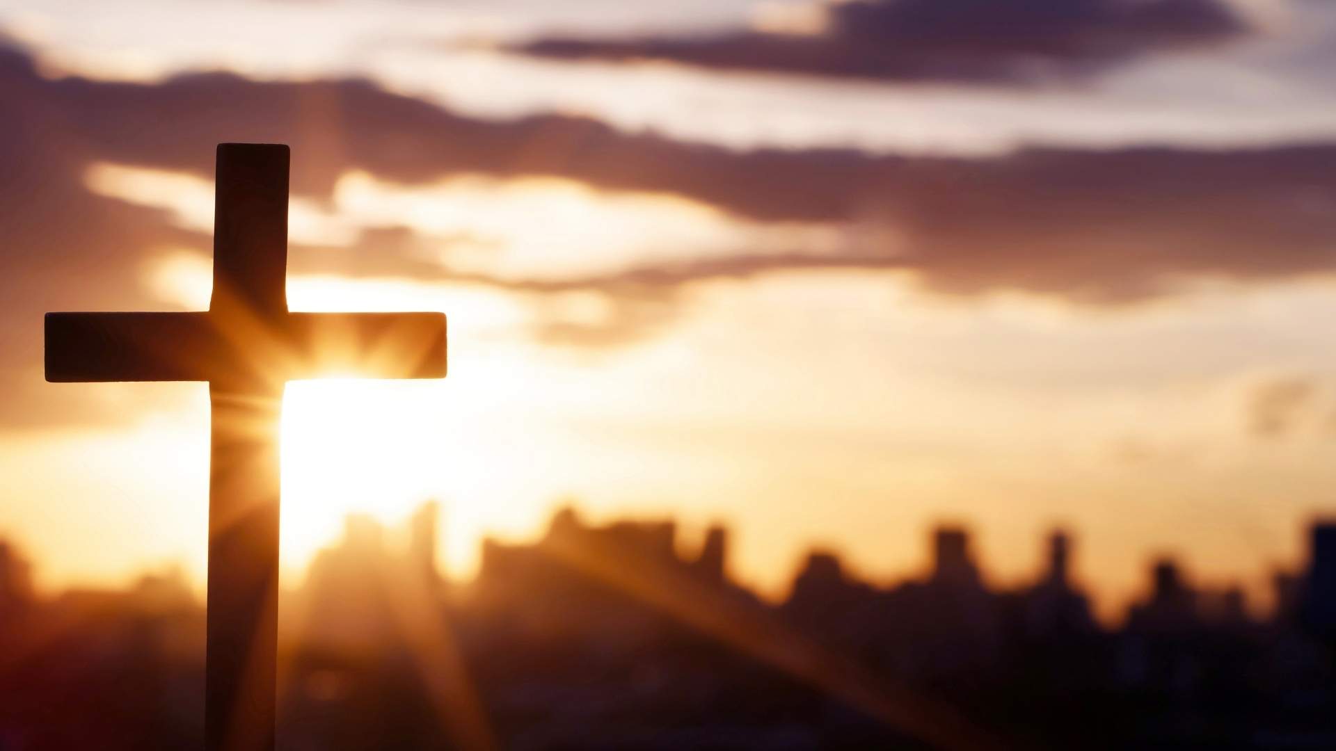
<path fill-rule="evenodd" d="M 289 380 L 445 377 L 441 313 L 289 313 L 283 144 L 218 144 L 204 313 L 48 313 L 47 381 L 207 381 L 210 751 L 274 747 L 278 424 Z"/>

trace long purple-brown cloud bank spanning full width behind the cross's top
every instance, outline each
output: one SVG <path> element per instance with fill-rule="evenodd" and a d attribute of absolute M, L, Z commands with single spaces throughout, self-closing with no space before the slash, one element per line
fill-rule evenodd
<path fill-rule="evenodd" d="M 294 249 L 295 271 L 454 279 L 534 299 L 592 291 L 611 302 L 605 323 L 554 315 L 540 331 L 549 341 L 628 341 L 671 321 L 693 282 L 786 270 L 907 270 L 950 294 L 1019 290 L 1128 305 L 1204 277 L 1287 279 L 1336 267 L 1332 144 L 1037 148 L 985 159 L 733 151 L 573 116 L 470 119 L 361 80 L 49 80 L 12 51 L 0 52 L 0 417 L 9 420 L 83 409 L 43 402 L 51 401 L 40 382 L 43 311 L 160 309 L 143 286 L 144 261 L 164 247 L 210 247 L 208 237 L 163 212 L 90 192 L 87 166 L 110 160 L 211 178 L 212 146 L 222 140 L 294 144 L 294 191 L 315 199 L 329 198 L 346 170 L 403 184 L 460 172 L 550 175 L 847 230 L 835 251 L 737 249 L 542 281 L 454 273 L 422 261 L 432 255 L 421 253 L 428 241 L 395 227 L 370 230 L 353 249 Z"/>

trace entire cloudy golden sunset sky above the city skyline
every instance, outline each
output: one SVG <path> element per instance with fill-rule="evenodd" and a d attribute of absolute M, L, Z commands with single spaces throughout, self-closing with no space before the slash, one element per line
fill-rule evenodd
<path fill-rule="evenodd" d="M 440 382 L 301 382 L 283 555 L 721 521 L 778 595 L 1055 524 L 1104 611 L 1336 513 L 1329 0 L 0 0 L 0 535 L 203 580 L 203 385 L 45 384 L 48 310 L 210 295 L 214 146 L 293 148 L 294 310 L 440 310 Z"/>

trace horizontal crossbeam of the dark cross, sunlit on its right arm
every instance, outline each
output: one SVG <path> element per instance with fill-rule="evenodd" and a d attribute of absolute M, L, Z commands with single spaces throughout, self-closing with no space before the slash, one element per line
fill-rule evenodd
<path fill-rule="evenodd" d="M 47 381 L 444 378 L 442 313 L 48 313 Z"/>

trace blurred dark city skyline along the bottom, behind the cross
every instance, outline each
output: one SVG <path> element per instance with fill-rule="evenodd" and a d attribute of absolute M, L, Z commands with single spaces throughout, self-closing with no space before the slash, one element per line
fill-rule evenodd
<path fill-rule="evenodd" d="M 1014 589 L 981 576 L 969 531 L 939 527 L 922 576 L 870 584 L 814 551 L 768 603 L 729 577 L 724 528 L 684 549 L 672 520 L 566 508 L 536 541 L 489 541 L 464 585 L 433 565 L 437 528 L 433 502 L 399 547 L 350 516 L 285 592 L 282 744 L 1325 748 L 1333 732 L 1336 524 L 1307 531 L 1265 617 L 1156 560 L 1150 591 L 1105 627 L 1061 532 Z M 194 743 L 204 608 L 180 573 L 49 597 L 29 573 L 0 541 L 5 738 Z"/>

